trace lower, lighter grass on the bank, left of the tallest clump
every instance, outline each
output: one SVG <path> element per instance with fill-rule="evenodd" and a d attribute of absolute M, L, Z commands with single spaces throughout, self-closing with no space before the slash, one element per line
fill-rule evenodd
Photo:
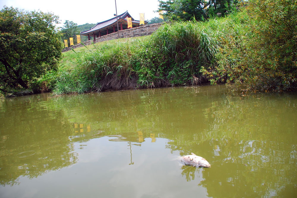
<path fill-rule="evenodd" d="M 93 50 L 78 54 L 75 67 L 62 71 L 56 83 L 56 93 L 84 93 L 106 88 L 126 88 L 133 78 L 131 52 L 136 43 L 107 43 L 93 46 Z M 74 50 L 73 50 L 74 51 Z"/>

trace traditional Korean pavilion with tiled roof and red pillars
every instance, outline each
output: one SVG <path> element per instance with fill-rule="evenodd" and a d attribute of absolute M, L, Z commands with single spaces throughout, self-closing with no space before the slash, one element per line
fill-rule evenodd
<path fill-rule="evenodd" d="M 127 23 L 128 17 L 131 17 L 128 11 L 124 12 L 121 15 L 118 15 L 120 30 L 128 29 L 128 23 Z M 144 23 L 146 24 L 147 21 L 145 21 Z M 139 27 L 140 26 L 139 24 L 140 24 L 140 21 L 134 20 L 132 18 L 132 28 Z M 94 40 L 95 40 L 96 37 L 98 38 L 100 36 L 104 36 L 117 31 L 118 31 L 118 28 L 116 24 L 116 17 L 113 17 L 109 20 L 97 23 L 93 28 L 87 31 L 81 32 L 80 35 L 88 36 L 89 40 L 90 40 L 90 37 L 92 36 L 94 37 Z"/>

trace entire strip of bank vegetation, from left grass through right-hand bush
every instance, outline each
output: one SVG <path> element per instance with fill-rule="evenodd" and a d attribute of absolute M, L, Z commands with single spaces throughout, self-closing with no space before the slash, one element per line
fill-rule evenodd
<path fill-rule="evenodd" d="M 67 94 L 207 82 L 295 90 L 297 1 L 249 0 L 224 9 L 226 17 L 171 21 L 140 40 L 65 52 L 59 69 L 39 79 L 40 90 Z"/>

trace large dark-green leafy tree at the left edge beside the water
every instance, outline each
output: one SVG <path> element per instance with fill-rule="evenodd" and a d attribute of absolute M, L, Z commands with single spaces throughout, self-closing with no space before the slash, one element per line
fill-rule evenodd
<path fill-rule="evenodd" d="M 6 7 L 0 12 L 0 89 L 28 83 L 56 69 L 62 45 L 51 13 Z"/>

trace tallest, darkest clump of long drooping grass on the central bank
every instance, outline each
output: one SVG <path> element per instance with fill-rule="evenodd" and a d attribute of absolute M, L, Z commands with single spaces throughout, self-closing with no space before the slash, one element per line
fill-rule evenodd
<path fill-rule="evenodd" d="M 140 86 L 198 84 L 200 67 L 214 61 L 216 41 L 199 22 L 165 24 L 137 54 Z"/>

